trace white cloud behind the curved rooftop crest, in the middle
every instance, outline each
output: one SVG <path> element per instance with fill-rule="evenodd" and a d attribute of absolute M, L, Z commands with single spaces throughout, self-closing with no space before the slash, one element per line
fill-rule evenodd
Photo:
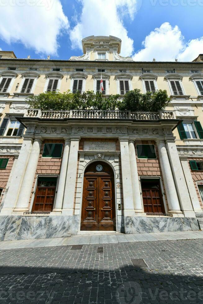
<path fill-rule="evenodd" d="M 79 1 L 82 3 L 82 13 L 79 23 L 70 31 L 72 48 L 82 49 L 81 40 L 87 36 L 112 35 L 122 39 L 122 55 L 131 55 L 133 39 L 128 37 L 122 17 L 128 15 L 133 20 L 138 0 Z"/>

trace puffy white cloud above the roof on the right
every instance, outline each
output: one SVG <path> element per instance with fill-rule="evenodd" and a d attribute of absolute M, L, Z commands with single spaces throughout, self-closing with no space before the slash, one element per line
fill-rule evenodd
<path fill-rule="evenodd" d="M 178 26 L 168 22 L 156 28 L 142 42 L 143 48 L 135 53 L 135 61 L 191 61 L 203 50 L 203 37 L 185 42 Z"/>

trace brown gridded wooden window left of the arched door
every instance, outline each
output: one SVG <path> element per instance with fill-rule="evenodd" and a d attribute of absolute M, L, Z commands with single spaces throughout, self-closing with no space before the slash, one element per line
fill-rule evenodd
<path fill-rule="evenodd" d="M 39 177 L 32 211 L 52 212 L 57 177 Z"/>

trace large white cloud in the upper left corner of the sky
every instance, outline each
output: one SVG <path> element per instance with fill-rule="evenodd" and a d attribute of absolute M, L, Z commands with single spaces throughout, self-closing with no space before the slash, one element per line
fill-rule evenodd
<path fill-rule="evenodd" d="M 4 0 L 0 38 L 21 42 L 46 55 L 57 54 L 57 37 L 69 28 L 60 0 Z"/>

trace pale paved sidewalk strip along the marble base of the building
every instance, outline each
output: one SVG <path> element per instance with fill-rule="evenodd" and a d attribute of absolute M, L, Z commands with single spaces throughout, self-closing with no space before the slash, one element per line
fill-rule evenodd
<path fill-rule="evenodd" d="M 121 234 L 104 233 L 99 235 L 74 235 L 67 238 L 28 239 L 16 241 L 1 241 L 0 250 L 15 248 L 55 247 L 88 244 L 113 244 L 128 242 L 149 242 L 166 240 L 203 239 L 203 231 L 178 231 L 162 233 Z"/>

